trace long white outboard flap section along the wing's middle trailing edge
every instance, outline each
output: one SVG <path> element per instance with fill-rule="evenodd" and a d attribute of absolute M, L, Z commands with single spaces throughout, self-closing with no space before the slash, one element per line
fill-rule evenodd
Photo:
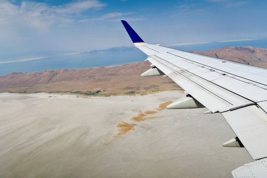
<path fill-rule="evenodd" d="M 212 112 L 223 112 L 252 103 L 155 55 L 149 57 L 148 60 Z"/>

